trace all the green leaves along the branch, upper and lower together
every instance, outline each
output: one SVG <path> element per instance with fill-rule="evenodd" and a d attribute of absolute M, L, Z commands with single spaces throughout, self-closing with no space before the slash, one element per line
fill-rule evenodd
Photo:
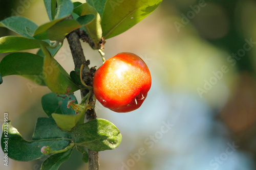
<path fill-rule="evenodd" d="M 66 35 L 76 29 L 83 29 L 93 42 L 95 50 L 104 37 L 108 39 L 130 29 L 136 23 L 153 12 L 162 0 L 88 0 L 87 3 L 70 0 L 44 0 L 50 21 L 37 26 L 33 21 L 12 16 L 0 21 L 0 27 L 6 27 L 20 36 L 0 38 L 0 53 L 6 55 L 0 63 L 0 84 L 2 77 L 18 75 L 33 83 L 48 86 L 53 92 L 42 97 L 42 107 L 48 118 L 38 118 L 32 141 L 25 140 L 10 122 L 8 125 L 8 156 L 17 161 L 29 161 L 45 156 L 41 148 L 49 146 L 53 151 L 62 151 L 51 155 L 42 164 L 41 169 L 57 169 L 66 161 L 76 146 L 88 161 L 87 149 L 103 151 L 115 149 L 121 142 L 119 130 L 108 120 L 95 119 L 83 123 L 88 103 L 74 106 L 78 114 L 68 109 L 68 99 L 56 96 L 66 95 L 78 89 L 86 88 L 79 82 L 79 69 L 68 72 L 54 59 L 62 46 Z M 72 17 L 70 17 L 72 16 Z M 55 41 L 55 42 L 53 42 Z M 36 54 L 17 52 L 39 48 Z M 88 97 L 88 96 L 87 96 Z M 79 108 L 80 107 L 80 108 Z M 5 126 L 5 125 L 4 125 Z M 7 136 L 3 131 L 1 145 Z M 72 144 L 72 145 L 70 145 Z M 72 146 L 72 147 L 70 147 Z"/>

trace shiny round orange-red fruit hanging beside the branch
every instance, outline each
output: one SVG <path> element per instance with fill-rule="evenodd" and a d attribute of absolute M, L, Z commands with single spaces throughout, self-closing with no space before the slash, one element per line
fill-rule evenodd
<path fill-rule="evenodd" d="M 145 62 L 133 53 L 119 53 L 100 66 L 93 79 L 96 99 L 115 112 L 138 109 L 151 88 Z"/>

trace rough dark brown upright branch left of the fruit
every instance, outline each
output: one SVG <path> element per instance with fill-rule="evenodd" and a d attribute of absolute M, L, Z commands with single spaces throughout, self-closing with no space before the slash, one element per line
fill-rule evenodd
<path fill-rule="evenodd" d="M 70 16 L 72 18 L 72 16 Z M 67 19 L 69 19 L 68 17 Z M 75 68 L 80 68 L 81 65 L 83 64 L 83 70 L 82 70 L 82 79 L 84 83 L 87 85 L 92 86 L 92 80 L 93 80 L 93 75 L 91 73 L 91 70 L 89 68 L 90 61 L 86 61 L 86 57 L 83 54 L 82 46 L 80 43 L 80 38 L 79 38 L 79 29 L 71 32 L 70 34 L 67 35 L 67 39 L 69 42 L 71 54 L 74 60 Z M 86 94 L 89 92 L 86 89 L 80 90 L 81 91 L 81 97 L 83 98 L 86 96 Z M 90 102 L 93 103 L 93 100 L 90 99 Z M 89 104 L 91 104 L 89 103 Z M 95 119 L 96 113 L 94 109 L 88 110 L 86 113 L 86 116 L 84 117 L 84 123 Z M 89 170 L 99 170 L 99 154 L 98 152 L 88 150 L 88 156 L 89 156 Z"/>

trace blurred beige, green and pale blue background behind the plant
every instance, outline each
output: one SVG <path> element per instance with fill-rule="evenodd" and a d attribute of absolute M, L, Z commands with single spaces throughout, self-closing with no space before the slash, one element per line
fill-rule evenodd
<path fill-rule="evenodd" d="M 41 0 L 0 1 L 0 20 L 17 14 L 37 25 L 48 21 Z M 106 40 L 106 59 L 131 52 L 146 62 L 152 88 L 130 113 L 97 102 L 97 116 L 114 123 L 123 136 L 117 149 L 99 153 L 100 169 L 256 169 L 255 30 L 252 0 L 164 0 L 132 29 Z M 0 28 L 0 36 L 6 35 L 14 33 Z M 90 66 L 99 67 L 99 53 L 82 46 Z M 66 40 L 55 59 L 68 72 L 74 69 Z M 30 91 L 28 83 L 18 76 L 3 78 L 0 123 L 8 112 L 12 125 L 31 140 L 36 119 L 46 117 L 41 97 L 50 90 Z M 80 101 L 79 91 L 75 95 Z M 0 155 L 3 159 L 2 150 Z M 43 160 L 9 159 L 0 169 L 40 169 Z M 75 150 L 60 169 L 88 169 L 88 164 Z"/>

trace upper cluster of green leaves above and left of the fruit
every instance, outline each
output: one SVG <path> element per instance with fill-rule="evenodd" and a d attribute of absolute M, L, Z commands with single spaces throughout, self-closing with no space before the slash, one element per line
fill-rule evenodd
<path fill-rule="evenodd" d="M 0 27 L 6 27 L 21 35 L 1 37 L 0 53 L 42 47 L 37 54 L 7 55 L 0 63 L 0 83 L 2 77 L 19 75 L 35 84 L 47 85 L 58 94 L 65 94 L 68 87 L 71 87 L 70 92 L 80 89 L 81 86 L 74 83 L 72 77 L 53 58 L 62 45 L 58 43 L 67 34 L 80 28 L 87 32 L 96 49 L 102 37 L 108 39 L 130 29 L 153 12 L 161 1 L 89 0 L 82 4 L 72 3 L 70 0 L 45 0 L 50 21 L 44 25 L 38 27 L 22 16 L 12 16 L 0 21 Z M 70 15 L 73 19 L 67 19 Z M 53 44 L 50 41 L 56 42 Z"/>

